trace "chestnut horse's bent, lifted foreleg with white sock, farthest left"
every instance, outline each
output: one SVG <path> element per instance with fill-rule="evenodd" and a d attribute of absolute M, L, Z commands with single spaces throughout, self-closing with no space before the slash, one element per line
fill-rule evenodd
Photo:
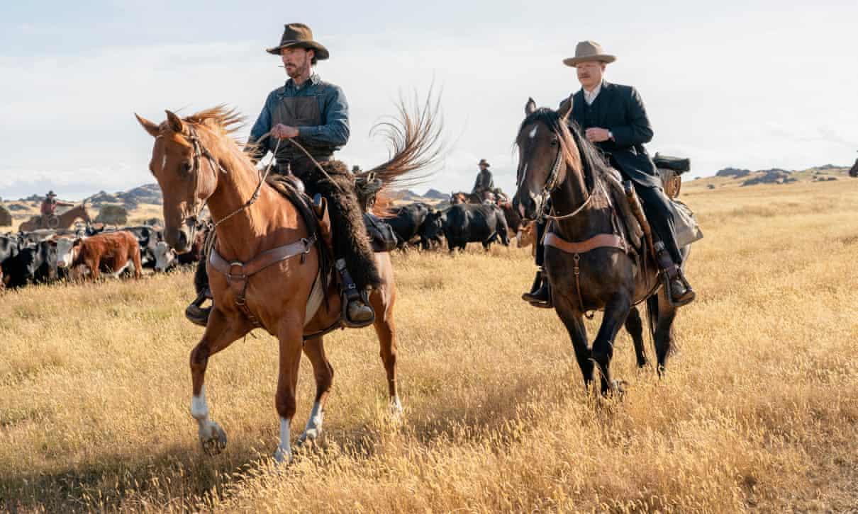
<path fill-rule="evenodd" d="M 208 357 L 227 348 L 236 339 L 245 335 L 249 327 L 245 322 L 227 320 L 220 310 L 215 308 L 208 315 L 206 332 L 202 334 L 199 344 L 190 351 L 191 393 L 190 415 L 199 427 L 202 450 L 208 455 L 221 453 L 227 447 L 227 433 L 220 425 L 208 418 L 208 402 L 206 401 L 205 375 L 208 367 Z"/>

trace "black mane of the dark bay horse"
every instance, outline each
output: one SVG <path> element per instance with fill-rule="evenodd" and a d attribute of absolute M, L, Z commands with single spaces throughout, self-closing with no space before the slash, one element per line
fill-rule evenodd
<path fill-rule="evenodd" d="M 580 169 L 583 172 L 587 189 L 592 191 L 597 177 L 605 176 L 610 169 L 599 149 L 583 136 L 581 127 L 576 122 L 561 123 L 559 113 L 547 107 L 541 107 L 525 117 L 518 131 L 521 132 L 525 126 L 536 122 L 545 123 L 559 135 L 560 148 L 566 163 L 571 165 L 572 169 Z"/>

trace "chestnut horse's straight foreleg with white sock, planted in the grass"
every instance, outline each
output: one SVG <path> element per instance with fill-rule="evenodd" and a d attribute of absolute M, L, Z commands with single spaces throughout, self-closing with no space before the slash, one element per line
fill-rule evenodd
<path fill-rule="evenodd" d="M 303 309 L 303 306 L 301 307 Z M 280 416 L 280 445 L 275 459 L 278 463 L 292 460 L 290 424 L 295 415 L 295 390 L 298 387 L 298 367 L 301 363 L 301 346 L 304 342 L 303 320 L 299 316 L 281 318 L 278 337 L 280 339 L 280 362 L 277 374 L 275 405 Z"/>

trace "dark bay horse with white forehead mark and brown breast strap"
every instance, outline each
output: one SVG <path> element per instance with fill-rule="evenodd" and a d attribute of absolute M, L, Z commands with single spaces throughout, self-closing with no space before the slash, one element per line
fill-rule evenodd
<path fill-rule="evenodd" d="M 608 242 L 615 222 L 604 182 L 607 164 L 577 128 L 568 127 L 571 105 L 565 102 L 560 111 L 537 109 L 529 99 L 516 141 L 515 203 L 523 218 L 535 219 L 551 198 L 546 241 L 550 236 L 555 243 L 546 245 L 545 268 L 554 309 L 569 332 L 585 385 L 592 382 L 598 365 L 601 392 L 607 394 L 618 384 L 611 378 L 610 362 L 613 340 L 624 323 L 634 339 L 638 366 L 646 364 L 642 323 L 634 306 L 648 302 L 660 373 L 672 344 L 676 308 L 663 288 L 656 290 L 660 281 L 651 261 L 645 268 L 636 254 Z M 590 348 L 583 315 L 592 310 L 604 310 L 604 316 Z"/>

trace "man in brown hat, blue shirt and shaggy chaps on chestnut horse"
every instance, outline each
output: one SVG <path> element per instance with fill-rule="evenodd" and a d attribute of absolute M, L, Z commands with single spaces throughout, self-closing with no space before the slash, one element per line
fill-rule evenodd
<path fill-rule="evenodd" d="M 313 71 L 313 65 L 327 59 L 329 51 L 313 40 L 310 27 L 302 23 L 287 24 L 280 45 L 267 51 L 281 56 L 289 80 L 269 93 L 251 128 L 245 151 L 254 162 L 269 151 L 274 153 L 276 174 L 297 176 L 307 194 L 321 194 L 328 200 L 335 267 L 340 272 L 348 302 L 347 323 L 354 327 L 370 325 L 374 313 L 366 297 L 381 279 L 366 235 L 354 178 L 347 170 L 329 175 L 318 169 L 333 158 L 349 136 L 345 94 Z M 307 153 L 291 141 L 299 143 Z M 208 312 L 191 304 L 189 318 L 204 326 Z"/>

